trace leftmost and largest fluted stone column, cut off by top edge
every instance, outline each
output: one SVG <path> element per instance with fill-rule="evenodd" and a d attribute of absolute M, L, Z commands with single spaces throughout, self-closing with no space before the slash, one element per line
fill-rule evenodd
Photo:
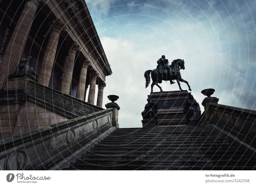
<path fill-rule="evenodd" d="M 20 62 L 38 5 L 38 1 L 35 3 L 26 1 L 25 6 L 23 7 L 19 20 L 4 52 L 2 65 L 0 67 L 0 89 L 4 89 L 6 76 L 14 73 Z"/>

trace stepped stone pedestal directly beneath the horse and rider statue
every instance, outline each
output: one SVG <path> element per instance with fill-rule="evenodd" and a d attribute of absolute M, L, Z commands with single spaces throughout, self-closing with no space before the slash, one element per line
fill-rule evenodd
<path fill-rule="evenodd" d="M 187 90 L 169 91 L 169 92 L 153 92 L 148 95 L 149 102 L 156 102 L 156 121 L 142 120 L 142 125 L 156 126 L 156 125 L 184 125 L 188 124 L 188 119 L 183 112 L 190 96 Z M 148 122 L 148 124 L 147 124 Z"/>

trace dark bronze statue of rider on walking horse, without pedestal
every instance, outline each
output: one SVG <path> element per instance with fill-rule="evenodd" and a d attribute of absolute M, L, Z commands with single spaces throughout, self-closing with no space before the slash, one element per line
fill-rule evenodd
<path fill-rule="evenodd" d="M 165 59 L 165 56 L 163 55 L 160 59 L 157 60 L 157 66 L 155 69 L 147 70 L 144 73 L 144 77 L 146 79 L 145 88 L 147 88 L 150 83 L 149 75 L 151 73 L 152 84 L 151 84 L 151 93 L 150 94 L 153 93 L 154 85 L 159 87 L 161 92 L 163 91 L 163 89 L 160 87 L 160 85 L 158 85 L 158 83 L 162 83 L 163 80 L 170 81 L 171 84 L 175 83 L 172 80 L 176 80 L 179 85 L 180 90 L 182 90 L 180 87 L 180 81 L 187 83 L 188 90 L 191 91 L 188 81 L 183 80 L 181 78 L 180 70 L 185 69 L 184 63 L 185 63 L 184 59 L 175 59 L 172 61 L 172 64 L 169 65 L 168 59 Z"/>

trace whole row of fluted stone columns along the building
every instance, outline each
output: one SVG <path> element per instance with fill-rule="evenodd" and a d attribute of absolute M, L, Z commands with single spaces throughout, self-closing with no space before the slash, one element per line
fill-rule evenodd
<path fill-rule="evenodd" d="M 32 25 L 32 22 L 35 17 L 36 10 L 38 5 L 41 1 L 35 1 L 34 4 L 29 3 L 27 1 L 25 6 L 22 10 L 20 18 L 15 26 L 13 34 L 10 38 L 8 46 L 5 50 L 2 66 L 0 67 L 0 89 L 4 89 L 4 85 L 6 83 L 6 76 L 12 74 L 16 67 L 19 64 L 21 55 L 24 51 L 25 44 L 28 40 L 28 34 Z M 60 32 L 61 32 L 62 25 L 59 22 L 56 22 L 51 29 L 51 33 L 49 35 L 49 40 L 46 46 L 46 50 L 44 53 L 44 57 L 42 60 L 41 68 L 38 74 L 38 83 L 49 86 L 52 68 L 54 65 L 54 60 L 56 56 L 56 50 L 59 42 Z M 67 60 L 65 60 L 65 71 L 64 77 L 61 82 L 61 92 L 63 94 L 69 94 L 71 81 L 72 81 L 72 74 L 75 64 L 76 52 L 79 51 L 79 47 L 72 43 L 71 47 L 68 52 Z M 86 58 L 83 58 L 81 63 L 81 70 L 80 76 L 78 81 L 78 88 L 76 97 L 78 99 L 85 101 L 86 91 L 88 89 L 88 85 L 86 85 L 86 76 L 87 76 L 87 69 L 90 65 L 90 61 Z M 92 72 L 90 75 L 90 89 L 88 95 L 88 103 L 94 104 L 95 99 L 95 87 L 96 87 L 96 80 L 99 77 L 99 74 L 96 72 Z M 4 81 L 5 82 L 4 82 Z M 104 81 L 99 82 L 99 91 L 97 97 L 97 106 L 102 107 L 102 98 L 103 98 L 103 89 L 106 86 Z"/>

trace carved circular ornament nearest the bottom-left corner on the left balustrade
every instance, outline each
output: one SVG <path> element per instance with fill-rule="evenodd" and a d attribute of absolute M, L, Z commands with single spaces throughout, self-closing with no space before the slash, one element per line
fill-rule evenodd
<path fill-rule="evenodd" d="M 24 151 L 13 152 L 8 158 L 5 159 L 5 170 L 22 170 L 25 168 L 27 162 L 27 155 Z"/>

